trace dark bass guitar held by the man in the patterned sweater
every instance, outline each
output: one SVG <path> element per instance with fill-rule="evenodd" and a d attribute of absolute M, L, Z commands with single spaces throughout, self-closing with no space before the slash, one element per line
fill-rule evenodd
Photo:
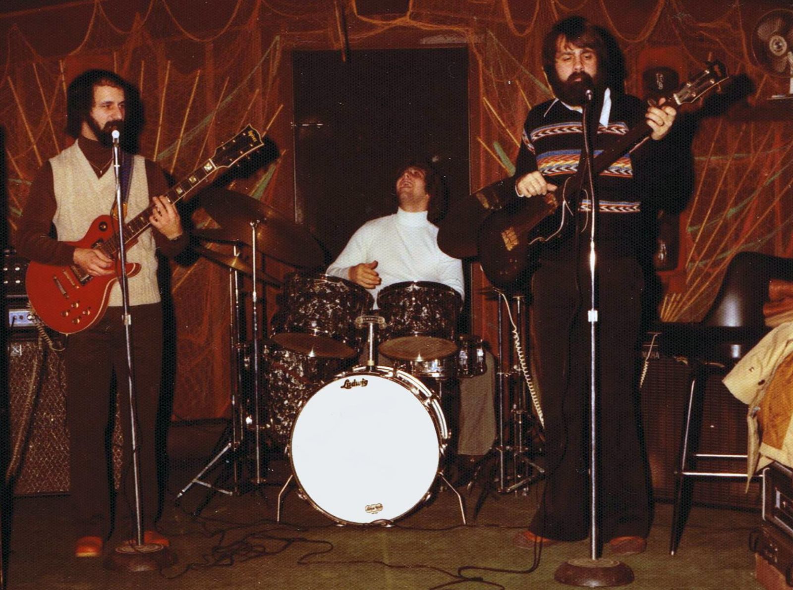
<path fill-rule="evenodd" d="M 695 102 L 726 79 L 723 63 L 708 62 L 699 75 L 666 97 L 666 102 L 676 108 Z M 606 170 L 652 132 L 646 121 L 642 121 L 625 135 L 616 138 L 593 160 L 593 173 L 597 175 Z M 477 236 L 477 251 L 482 270 L 494 287 L 515 287 L 534 266 L 542 243 L 568 234 L 575 217 L 573 213 L 578 207 L 577 188 L 581 186 L 584 171 L 583 166 L 579 167 L 577 173 L 568 177 L 555 195 L 549 193 L 548 198 L 520 198 L 515 195 L 482 220 Z"/>

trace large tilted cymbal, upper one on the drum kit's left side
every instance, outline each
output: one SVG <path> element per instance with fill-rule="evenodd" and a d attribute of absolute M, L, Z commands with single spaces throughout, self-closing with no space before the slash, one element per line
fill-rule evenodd
<path fill-rule="evenodd" d="M 324 262 L 320 243 L 308 230 L 278 213 L 270 205 L 228 189 L 201 191 L 201 206 L 226 235 L 252 246 L 251 224 L 257 223 L 257 250 L 291 266 L 315 268 Z"/>

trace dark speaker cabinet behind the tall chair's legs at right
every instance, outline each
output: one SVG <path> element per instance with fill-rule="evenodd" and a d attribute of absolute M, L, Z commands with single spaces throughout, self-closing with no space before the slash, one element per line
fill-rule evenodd
<path fill-rule="evenodd" d="M 688 402 L 688 365 L 674 358 L 651 358 L 642 386 L 644 438 L 653 477 L 656 500 L 672 500 L 675 469 L 680 461 L 680 439 Z M 748 429 L 747 408 L 712 376 L 707 382 L 703 404 L 699 453 L 745 454 Z M 697 469 L 707 471 L 746 470 L 745 459 L 703 459 Z M 730 508 L 760 508 L 760 484 L 753 482 L 745 492 L 745 479 L 694 478 L 692 501 Z"/>

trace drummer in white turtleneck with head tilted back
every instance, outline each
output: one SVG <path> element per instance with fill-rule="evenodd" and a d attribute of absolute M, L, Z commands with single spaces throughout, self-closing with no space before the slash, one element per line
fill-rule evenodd
<path fill-rule="evenodd" d="M 405 281 L 441 283 L 464 296 L 462 262 L 441 251 L 438 226 L 427 219 L 431 192 L 441 190 L 436 175 L 423 164 L 404 168 L 397 178 L 397 213 L 358 228 L 328 274 L 361 285 L 375 300 L 383 287 Z"/>

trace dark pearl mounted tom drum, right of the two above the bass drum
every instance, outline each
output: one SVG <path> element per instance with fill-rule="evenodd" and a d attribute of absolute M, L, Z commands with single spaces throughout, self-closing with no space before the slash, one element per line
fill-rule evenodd
<path fill-rule="evenodd" d="M 404 361 L 454 354 L 461 306 L 460 293 L 440 283 L 400 282 L 384 287 L 377 295 L 377 307 L 385 317 L 381 354 Z"/>

